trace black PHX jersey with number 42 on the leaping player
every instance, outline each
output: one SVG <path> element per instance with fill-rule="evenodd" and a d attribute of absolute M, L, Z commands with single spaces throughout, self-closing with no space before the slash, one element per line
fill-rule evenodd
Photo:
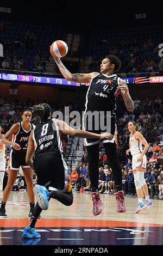
<path fill-rule="evenodd" d="M 86 94 L 86 111 L 114 111 L 119 78 L 117 75 L 99 74 L 92 78 Z"/>

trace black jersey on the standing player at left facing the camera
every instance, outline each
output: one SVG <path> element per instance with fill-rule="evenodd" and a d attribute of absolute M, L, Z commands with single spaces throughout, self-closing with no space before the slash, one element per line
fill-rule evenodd
<path fill-rule="evenodd" d="M 16 135 L 12 135 L 12 142 L 19 144 L 21 149 L 15 150 L 12 147 L 12 150 L 16 152 L 26 152 L 28 148 L 28 139 L 29 139 L 30 132 L 33 130 L 35 126 L 33 124 L 30 124 L 29 131 L 26 131 L 23 129 L 22 122 L 18 124 L 19 124 L 19 130 L 16 133 Z"/>

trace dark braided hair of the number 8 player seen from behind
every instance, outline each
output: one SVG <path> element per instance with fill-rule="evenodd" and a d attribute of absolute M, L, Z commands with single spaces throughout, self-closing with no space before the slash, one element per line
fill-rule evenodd
<path fill-rule="evenodd" d="M 47 103 L 41 103 L 39 105 L 33 106 L 32 113 L 34 115 L 34 118 L 32 121 L 34 121 L 34 123 L 37 123 L 39 121 L 45 123 L 49 118 L 51 111 L 52 109 Z"/>

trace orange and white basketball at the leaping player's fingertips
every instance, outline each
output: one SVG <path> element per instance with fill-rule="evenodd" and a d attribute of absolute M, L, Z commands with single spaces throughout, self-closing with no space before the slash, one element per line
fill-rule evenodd
<path fill-rule="evenodd" d="M 53 42 L 53 44 L 51 45 L 50 52 L 51 52 L 52 56 L 61 58 L 67 54 L 68 46 L 67 46 L 66 42 L 57 40 L 57 41 Z"/>

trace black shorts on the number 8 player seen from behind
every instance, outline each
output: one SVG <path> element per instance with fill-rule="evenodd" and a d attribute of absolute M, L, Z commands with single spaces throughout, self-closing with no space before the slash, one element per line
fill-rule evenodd
<path fill-rule="evenodd" d="M 71 191 L 68 167 L 61 154 L 40 153 L 35 157 L 33 164 L 37 184 L 46 186 L 49 190 Z"/>

